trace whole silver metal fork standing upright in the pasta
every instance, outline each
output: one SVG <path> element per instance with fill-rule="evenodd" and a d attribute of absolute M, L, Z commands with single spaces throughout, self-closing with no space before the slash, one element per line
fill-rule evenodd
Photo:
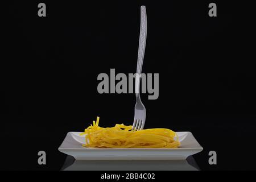
<path fill-rule="evenodd" d="M 136 104 L 134 111 L 134 122 L 132 130 L 142 130 L 146 120 L 146 108 L 141 102 L 141 96 L 139 95 L 139 87 L 141 82 L 141 71 L 146 47 L 147 38 L 147 14 L 146 7 L 141 6 L 141 30 L 139 34 L 139 51 L 137 60 L 137 74 L 135 78 L 135 95 Z"/>

